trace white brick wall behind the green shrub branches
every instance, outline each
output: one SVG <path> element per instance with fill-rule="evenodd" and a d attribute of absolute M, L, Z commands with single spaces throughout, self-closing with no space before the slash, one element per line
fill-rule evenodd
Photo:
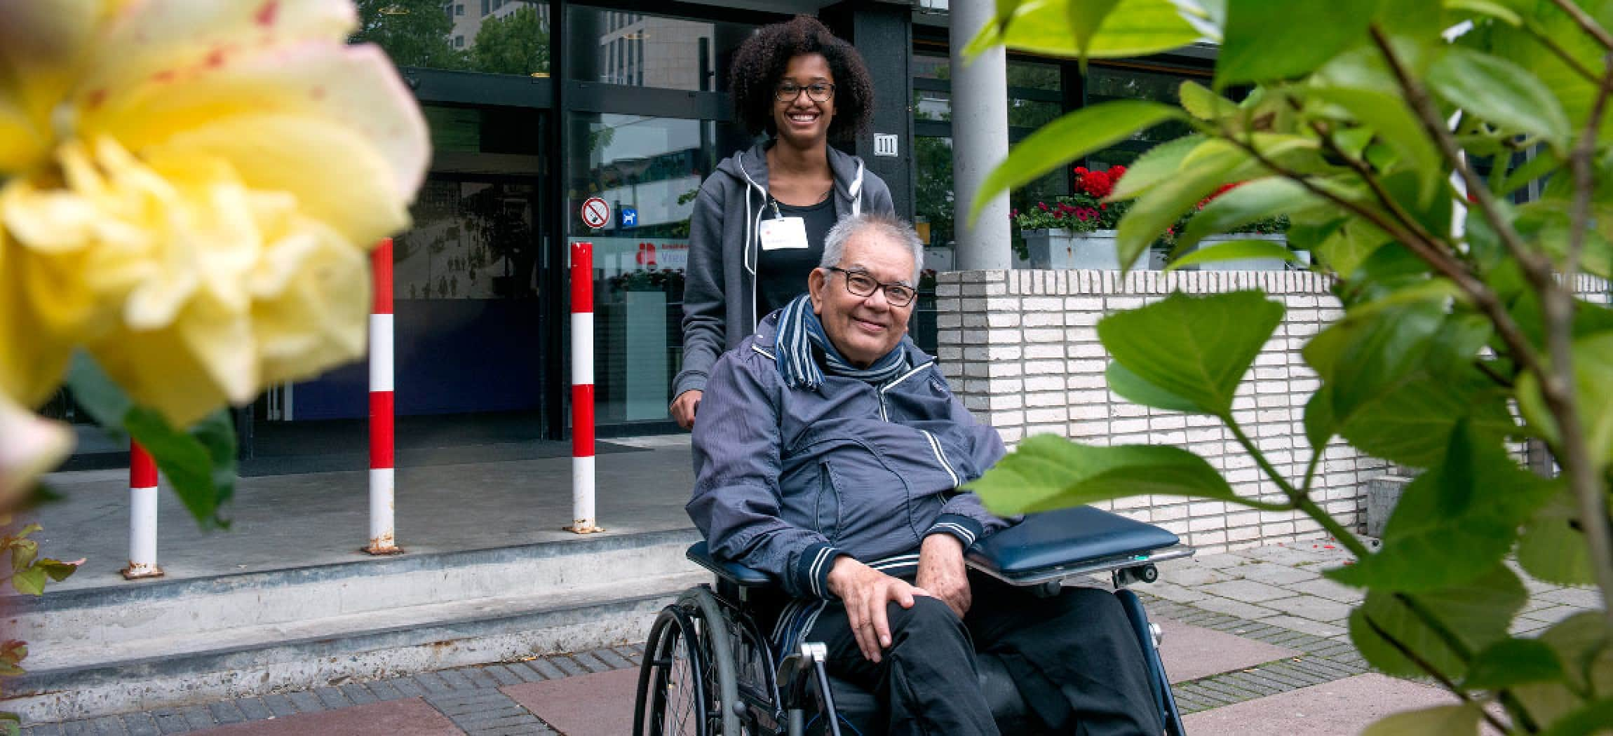
<path fill-rule="evenodd" d="M 1108 390 L 1108 354 L 1098 343 L 1105 314 L 1132 309 L 1171 292 L 1219 293 L 1261 288 L 1282 301 L 1284 320 L 1255 359 L 1232 406 L 1244 432 L 1287 478 L 1310 461 L 1305 401 L 1318 387 L 1300 354 L 1305 341 L 1344 316 L 1311 272 L 1139 271 L 961 271 L 936 287 L 939 356 L 963 404 L 1002 433 L 1010 446 L 1053 433 L 1089 444 L 1179 444 L 1221 470 L 1239 496 L 1281 501 L 1277 488 L 1213 417 L 1131 404 Z M 1581 277 L 1582 298 L 1608 303 L 1608 283 Z M 1340 523 L 1366 523 L 1366 482 L 1389 465 L 1344 441 L 1327 446 L 1313 498 Z M 1221 501 L 1137 496 L 1108 506 L 1158 523 L 1200 552 L 1319 538 L 1323 528 L 1298 512 L 1260 512 Z"/>

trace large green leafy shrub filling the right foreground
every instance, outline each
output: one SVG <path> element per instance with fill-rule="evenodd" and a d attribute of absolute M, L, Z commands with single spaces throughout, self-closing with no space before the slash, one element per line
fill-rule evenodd
<path fill-rule="evenodd" d="M 1345 316 L 1303 356 L 1310 457 L 1266 457 L 1234 412 L 1239 383 L 1282 322 L 1260 290 L 1173 293 L 1097 325 L 1110 390 L 1213 417 L 1261 469 L 1237 493 L 1190 449 L 1024 440 L 969 485 L 997 514 L 1134 494 L 1298 512 L 1355 554 L 1324 570 L 1365 591 L 1350 638 L 1376 668 L 1432 678 L 1447 705 L 1368 736 L 1592 734 L 1613 726 L 1613 309 L 1581 298 L 1613 277 L 1610 0 L 997 0 L 969 52 L 1071 58 L 1219 43 L 1213 87 L 1179 105 L 1111 100 L 1015 145 L 992 196 L 1161 122 L 1192 135 L 1142 153 L 1110 201 L 1119 263 L 1194 213 L 1176 253 L 1277 214 L 1289 245 L 1229 242 L 1192 259 L 1307 250 Z M 1060 32 L 1061 31 L 1061 32 Z M 1237 101 L 1223 92 L 1253 85 Z M 1205 203 L 1229 184 L 1247 182 Z M 1523 192 L 1539 192 L 1524 201 Z M 1203 205 L 1202 205 L 1203 203 Z M 1202 209 L 1200 209 L 1202 205 Z M 1276 250 L 1276 253 L 1273 253 Z M 1187 263 L 1173 261 L 1173 267 Z M 1282 340 L 1277 337 L 1277 340 Z M 1329 515 L 1316 473 L 1331 444 L 1421 469 L 1378 551 Z M 1542 443 L 1558 470 L 1519 465 Z M 1539 635 L 1518 570 L 1595 585 L 1602 610 Z M 1487 731 L 1489 733 L 1489 731 Z"/>

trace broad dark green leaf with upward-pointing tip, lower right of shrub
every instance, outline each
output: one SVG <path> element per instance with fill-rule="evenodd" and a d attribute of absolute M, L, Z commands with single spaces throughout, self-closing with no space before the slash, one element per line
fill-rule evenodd
<path fill-rule="evenodd" d="M 1547 482 L 1518 469 L 1498 438 L 1460 422 L 1445 462 L 1402 493 L 1382 549 L 1327 577 L 1405 593 L 1466 583 L 1507 556 L 1518 527 L 1548 498 Z"/>

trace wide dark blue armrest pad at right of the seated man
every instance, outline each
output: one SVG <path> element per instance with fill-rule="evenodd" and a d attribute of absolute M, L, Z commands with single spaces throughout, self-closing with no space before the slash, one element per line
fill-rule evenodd
<path fill-rule="evenodd" d="M 976 543 L 969 548 L 968 560 L 997 577 L 1015 580 L 1077 562 L 1145 554 L 1177 543 L 1176 535 L 1152 523 L 1077 506 L 1031 514 Z"/>

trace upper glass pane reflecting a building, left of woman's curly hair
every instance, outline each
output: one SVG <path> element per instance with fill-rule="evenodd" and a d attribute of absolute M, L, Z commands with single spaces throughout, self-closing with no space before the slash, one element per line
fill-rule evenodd
<path fill-rule="evenodd" d="M 739 23 L 611 14 L 587 6 L 566 8 L 566 23 L 571 79 L 690 92 L 726 90 L 734 52 L 755 31 Z"/>

